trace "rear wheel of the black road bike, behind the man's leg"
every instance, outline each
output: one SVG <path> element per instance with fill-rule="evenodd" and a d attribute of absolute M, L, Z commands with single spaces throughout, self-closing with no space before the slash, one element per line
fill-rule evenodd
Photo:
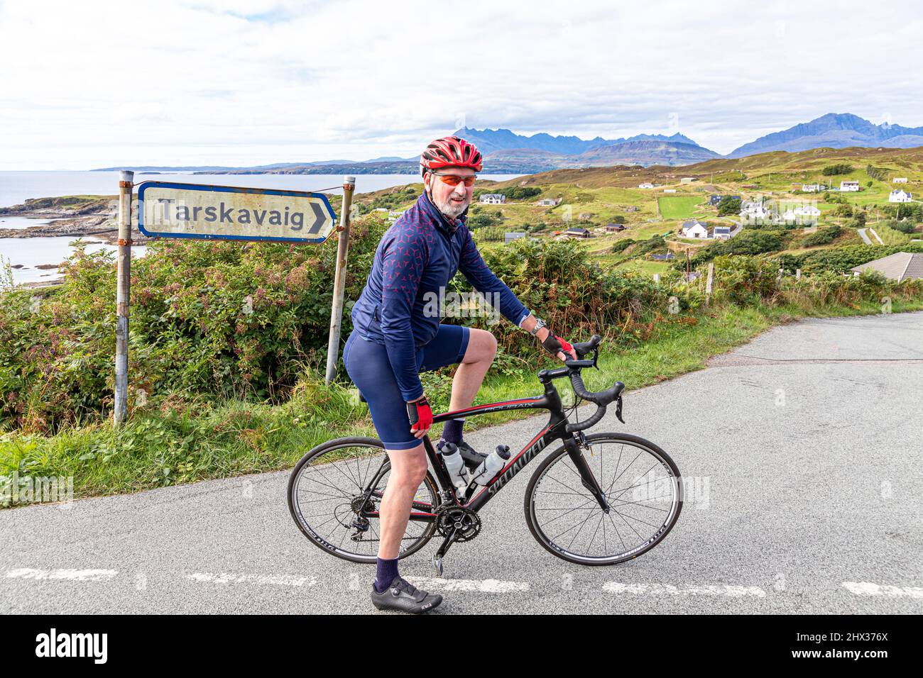
<path fill-rule="evenodd" d="M 390 461 L 376 438 L 338 438 L 310 450 L 292 470 L 289 512 L 302 533 L 318 547 L 354 563 L 375 563 L 380 533 L 378 511 L 388 484 Z M 427 470 L 414 496 L 414 510 L 438 505 L 436 481 Z M 416 553 L 436 530 L 435 522 L 407 523 L 398 557 Z"/>

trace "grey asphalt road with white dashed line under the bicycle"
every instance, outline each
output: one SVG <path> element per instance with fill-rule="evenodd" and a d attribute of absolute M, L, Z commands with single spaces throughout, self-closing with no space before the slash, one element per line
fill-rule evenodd
<path fill-rule="evenodd" d="M 923 314 L 776 327 L 700 372 L 629 392 L 627 425 L 695 492 L 624 565 L 570 565 L 526 528 L 526 468 L 438 579 L 434 613 L 923 612 Z M 537 382 L 536 382 L 537 385 Z M 537 392 L 537 389 L 536 389 Z M 524 445 L 544 418 L 469 434 Z M 371 565 L 295 528 L 287 473 L 0 512 L 7 613 L 367 613 Z"/>

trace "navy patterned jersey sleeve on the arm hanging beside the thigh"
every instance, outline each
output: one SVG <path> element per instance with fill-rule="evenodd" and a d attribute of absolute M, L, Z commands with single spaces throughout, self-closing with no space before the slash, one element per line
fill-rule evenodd
<path fill-rule="evenodd" d="M 411 314 L 428 259 L 426 236 L 414 230 L 398 233 L 382 256 L 381 332 L 391 369 L 407 402 L 423 395 Z"/>

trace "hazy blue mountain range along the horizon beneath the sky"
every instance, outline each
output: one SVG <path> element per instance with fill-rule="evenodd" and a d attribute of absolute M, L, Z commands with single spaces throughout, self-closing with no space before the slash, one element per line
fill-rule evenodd
<path fill-rule="evenodd" d="M 743 158 L 757 153 L 848 147 L 909 149 L 923 146 L 923 127 L 875 125 L 852 113 L 827 113 L 809 123 L 759 137 L 727 155 L 706 149 L 678 132 L 666 136 L 641 134 L 634 137 L 581 139 L 553 137 L 544 132 L 525 137 L 509 129 L 473 129 L 464 126 L 454 133 L 477 145 L 484 154 L 486 173 L 547 172 L 564 168 L 609 167 L 615 165 L 689 165 L 717 158 Z M 418 172 L 418 157 L 386 156 L 369 161 L 282 162 L 256 167 L 144 167 L 104 168 L 106 171 L 193 171 L 198 173 L 291 173 L 330 174 L 342 172 L 381 174 Z M 100 170 L 102 171 L 102 170 Z"/>

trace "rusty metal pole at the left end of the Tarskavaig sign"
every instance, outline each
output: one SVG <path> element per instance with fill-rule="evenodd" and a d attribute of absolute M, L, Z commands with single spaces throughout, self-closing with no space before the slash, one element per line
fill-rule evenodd
<path fill-rule="evenodd" d="M 118 183 L 118 273 L 115 292 L 115 403 L 113 423 L 128 411 L 128 300 L 131 297 L 131 189 L 135 172 L 123 170 Z"/>

